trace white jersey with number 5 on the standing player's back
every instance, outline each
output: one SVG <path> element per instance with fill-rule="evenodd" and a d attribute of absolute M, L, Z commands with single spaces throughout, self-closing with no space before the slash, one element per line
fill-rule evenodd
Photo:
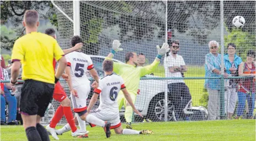
<path fill-rule="evenodd" d="M 70 74 L 73 86 L 84 84 L 85 81 L 89 81 L 86 76 L 86 71 L 94 68 L 89 55 L 83 52 L 72 52 L 66 56 L 68 66 L 70 66 Z M 88 83 L 88 82 L 86 82 Z"/>

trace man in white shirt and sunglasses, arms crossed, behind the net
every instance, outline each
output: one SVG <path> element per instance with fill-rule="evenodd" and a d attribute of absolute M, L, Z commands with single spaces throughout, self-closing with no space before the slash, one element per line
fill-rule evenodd
<path fill-rule="evenodd" d="M 184 77 L 183 72 L 187 71 L 187 67 L 183 57 L 177 54 L 179 51 L 179 41 L 173 41 L 170 45 L 171 52 L 164 59 L 164 67 L 167 71 L 166 77 Z M 186 116 L 184 111 L 188 108 L 192 100 L 189 88 L 184 80 L 167 80 L 167 83 L 168 89 L 171 95 L 173 95 L 173 101 L 175 101 L 176 120 L 184 119 Z"/>

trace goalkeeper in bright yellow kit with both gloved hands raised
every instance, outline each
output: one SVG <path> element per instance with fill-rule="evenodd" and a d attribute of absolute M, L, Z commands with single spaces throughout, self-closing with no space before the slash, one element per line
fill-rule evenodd
<path fill-rule="evenodd" d="M 111 53 L 108 54 L 106 59 L 112 59 L 113 55 L 115 55 L 116 52 L 122 51 L 123 49 L 119 48 L 120 45 L 121 43 L 118 40 L 114 40 Z M 114 62 L 113 64 L 114 66 L 113 71 L 117 75 L 122 76 L 124 83 L 126 84 L 127 91 L 130 94 L 130 97 L 132 98 L 133 104 L 135 103 L 135 100 L 136 100 L 140 77 L 150 74 L 152 71 L 154 71 L 156 67 L 159 65 L 162 55 L 164 55 L 170 50 L 167 43 L 164 43 L 162 45 L 162 48 L 160 48 L 159 46 L 156 46 L 156 47 L 158 52 L 156 59 L 152 64 L 148 66 L 137 67 L 137 54 L 134 52 L 126 53 L 126 57 L 125 57 L 126 64 L 116 63 L 116 62 Z M 130 106 L 127 100 L 125 99 L 122 91 L 120 91 L 118 94 L 117 102 L 119 105 L 119 110 L 122 108 L 123 105 L 124 105 L 124 108 L 126 109 L 124 113 L 124 117 L 127 122 L 126 128 L 132 129 L 131 122 L 132 122 L 133 109 L 132 109 L 132 106 Z"/>

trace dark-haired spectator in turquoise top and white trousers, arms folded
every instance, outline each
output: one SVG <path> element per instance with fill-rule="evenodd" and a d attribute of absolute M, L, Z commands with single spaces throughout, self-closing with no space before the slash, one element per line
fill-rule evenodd
<path fill-rule="evenodd" d="M 238 67 L 242 59 L 236 55 L 236 45 L 233 43 L 227 44 L 227 54 L 224 55 L 225 70 L 228 76 L 238 76 Z M 225 111 L 227 118 L 231 119 L 237 101 L 237 80 L 225 80 Z"/>

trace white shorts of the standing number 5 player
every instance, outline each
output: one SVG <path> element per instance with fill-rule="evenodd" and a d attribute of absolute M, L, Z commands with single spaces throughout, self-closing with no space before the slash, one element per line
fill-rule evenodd
<path fill-rule="evenodd" d="M 70 94 L 74 112 L 81 112 L 87 110 L 86 99 L 88 98 L 88 95 L 90 93 L 90 83 L 81 84 L 73 88 L 77 90 L 78 93 L 78 97 Z"/>

